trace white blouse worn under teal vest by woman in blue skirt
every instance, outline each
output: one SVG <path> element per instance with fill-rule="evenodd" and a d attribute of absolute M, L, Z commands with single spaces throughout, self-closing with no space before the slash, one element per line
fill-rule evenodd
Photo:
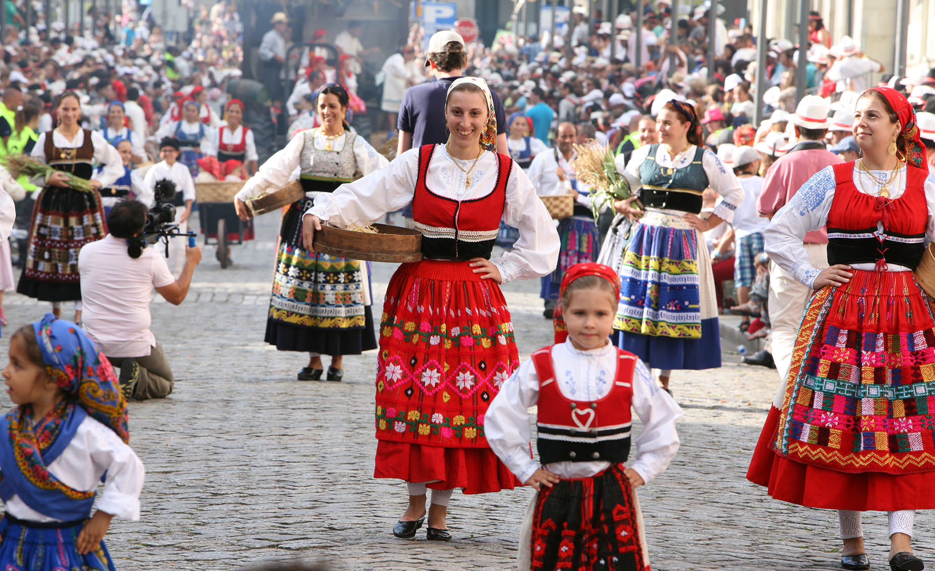
<path fill-rule="evenodd" d="M 642 186 L 640 181 L 640 165 L 649 156 L 651 145 L 640 147 L 630 154 L 630 162 L 624 166 L 624 155 L 617 155 L 617 172 L 624 175 L 630 181 L 630 189 L 636 192 Z M 669 150 L 665 145 L 659 145 L 655 152 L 655 162 L 659 166 L 666 168 L 684 168 L 695 159 L 695 145 L 689 145 L 682 152 L 674 157 L 669 156 Z M 713 215 L 718 216 L 728 224 L 734 221 L 734 211 L 740 206 L 743 200 L 743 187 L 741 181 L 734 176 L 734 171 L 728 169 L 721 160 L 717 158 L 711 150 L 705 150 L 701 155 L 701 166 L 704 168 L 705 175 L 708 176 L 708 185 L 712 190 L 721 195 L 714 205 Z M 664 214 L 674 214 L 683 216 L 681 210 L 672 210 L 669 208 L 647 208 Z"/>

